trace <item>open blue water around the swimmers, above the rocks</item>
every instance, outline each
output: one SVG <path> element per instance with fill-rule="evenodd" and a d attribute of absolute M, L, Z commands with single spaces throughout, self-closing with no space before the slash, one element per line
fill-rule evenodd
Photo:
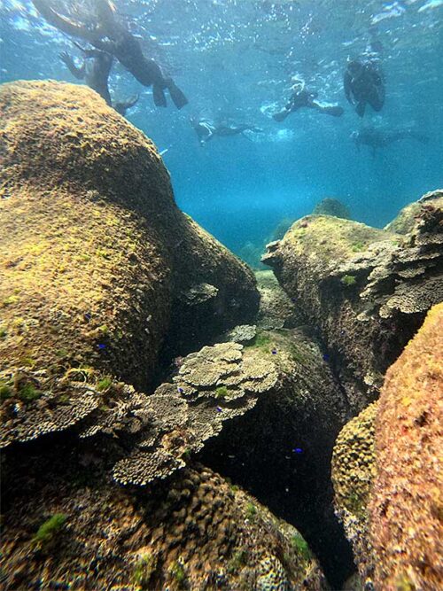
<path fill-rule="evenodd" d="M 355 220 L 383 227 L 401 206 L 443 185 L 441 0 L 116 0 L 115 6 L 190 104 L 181 111 L 155 108 L 151 89 L 121 66 L 113 68 L 113 95 L 141 92 L 128 120 L 167 150 L 179 206 L 234 252 L 260 251 L 282 219 L 309 214 L 324 197 L 339 198 Z M 79 52 L 30 2 L 0 0 L 0 23 L 0 82 L 77 82 L 58 53 Z M 380 113 L 369 108 L 361 121 L 346 102 L 343 72 L 347 58 L 375 42 L 385 106 Z M 305 109 L 274 121 L 295 78 L 345 114 L 336 119 Z M 191 115 L 229 117 L 263 132 L 215 137 L 201 147 Z M 369 124 L 414 126 L 430 142 L 400 141 L 373 157 L 350 139 Z"/>

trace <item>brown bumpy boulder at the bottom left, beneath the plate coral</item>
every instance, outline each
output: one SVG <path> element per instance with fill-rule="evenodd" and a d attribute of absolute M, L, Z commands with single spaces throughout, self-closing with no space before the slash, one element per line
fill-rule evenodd
<path fill-rule="evenodd" d="M 3 507 L 5 588 L 328 588 L 297 530 L 199 464 L 138 491 L 106 481 L 99 447 L 20 464 Z"/>

